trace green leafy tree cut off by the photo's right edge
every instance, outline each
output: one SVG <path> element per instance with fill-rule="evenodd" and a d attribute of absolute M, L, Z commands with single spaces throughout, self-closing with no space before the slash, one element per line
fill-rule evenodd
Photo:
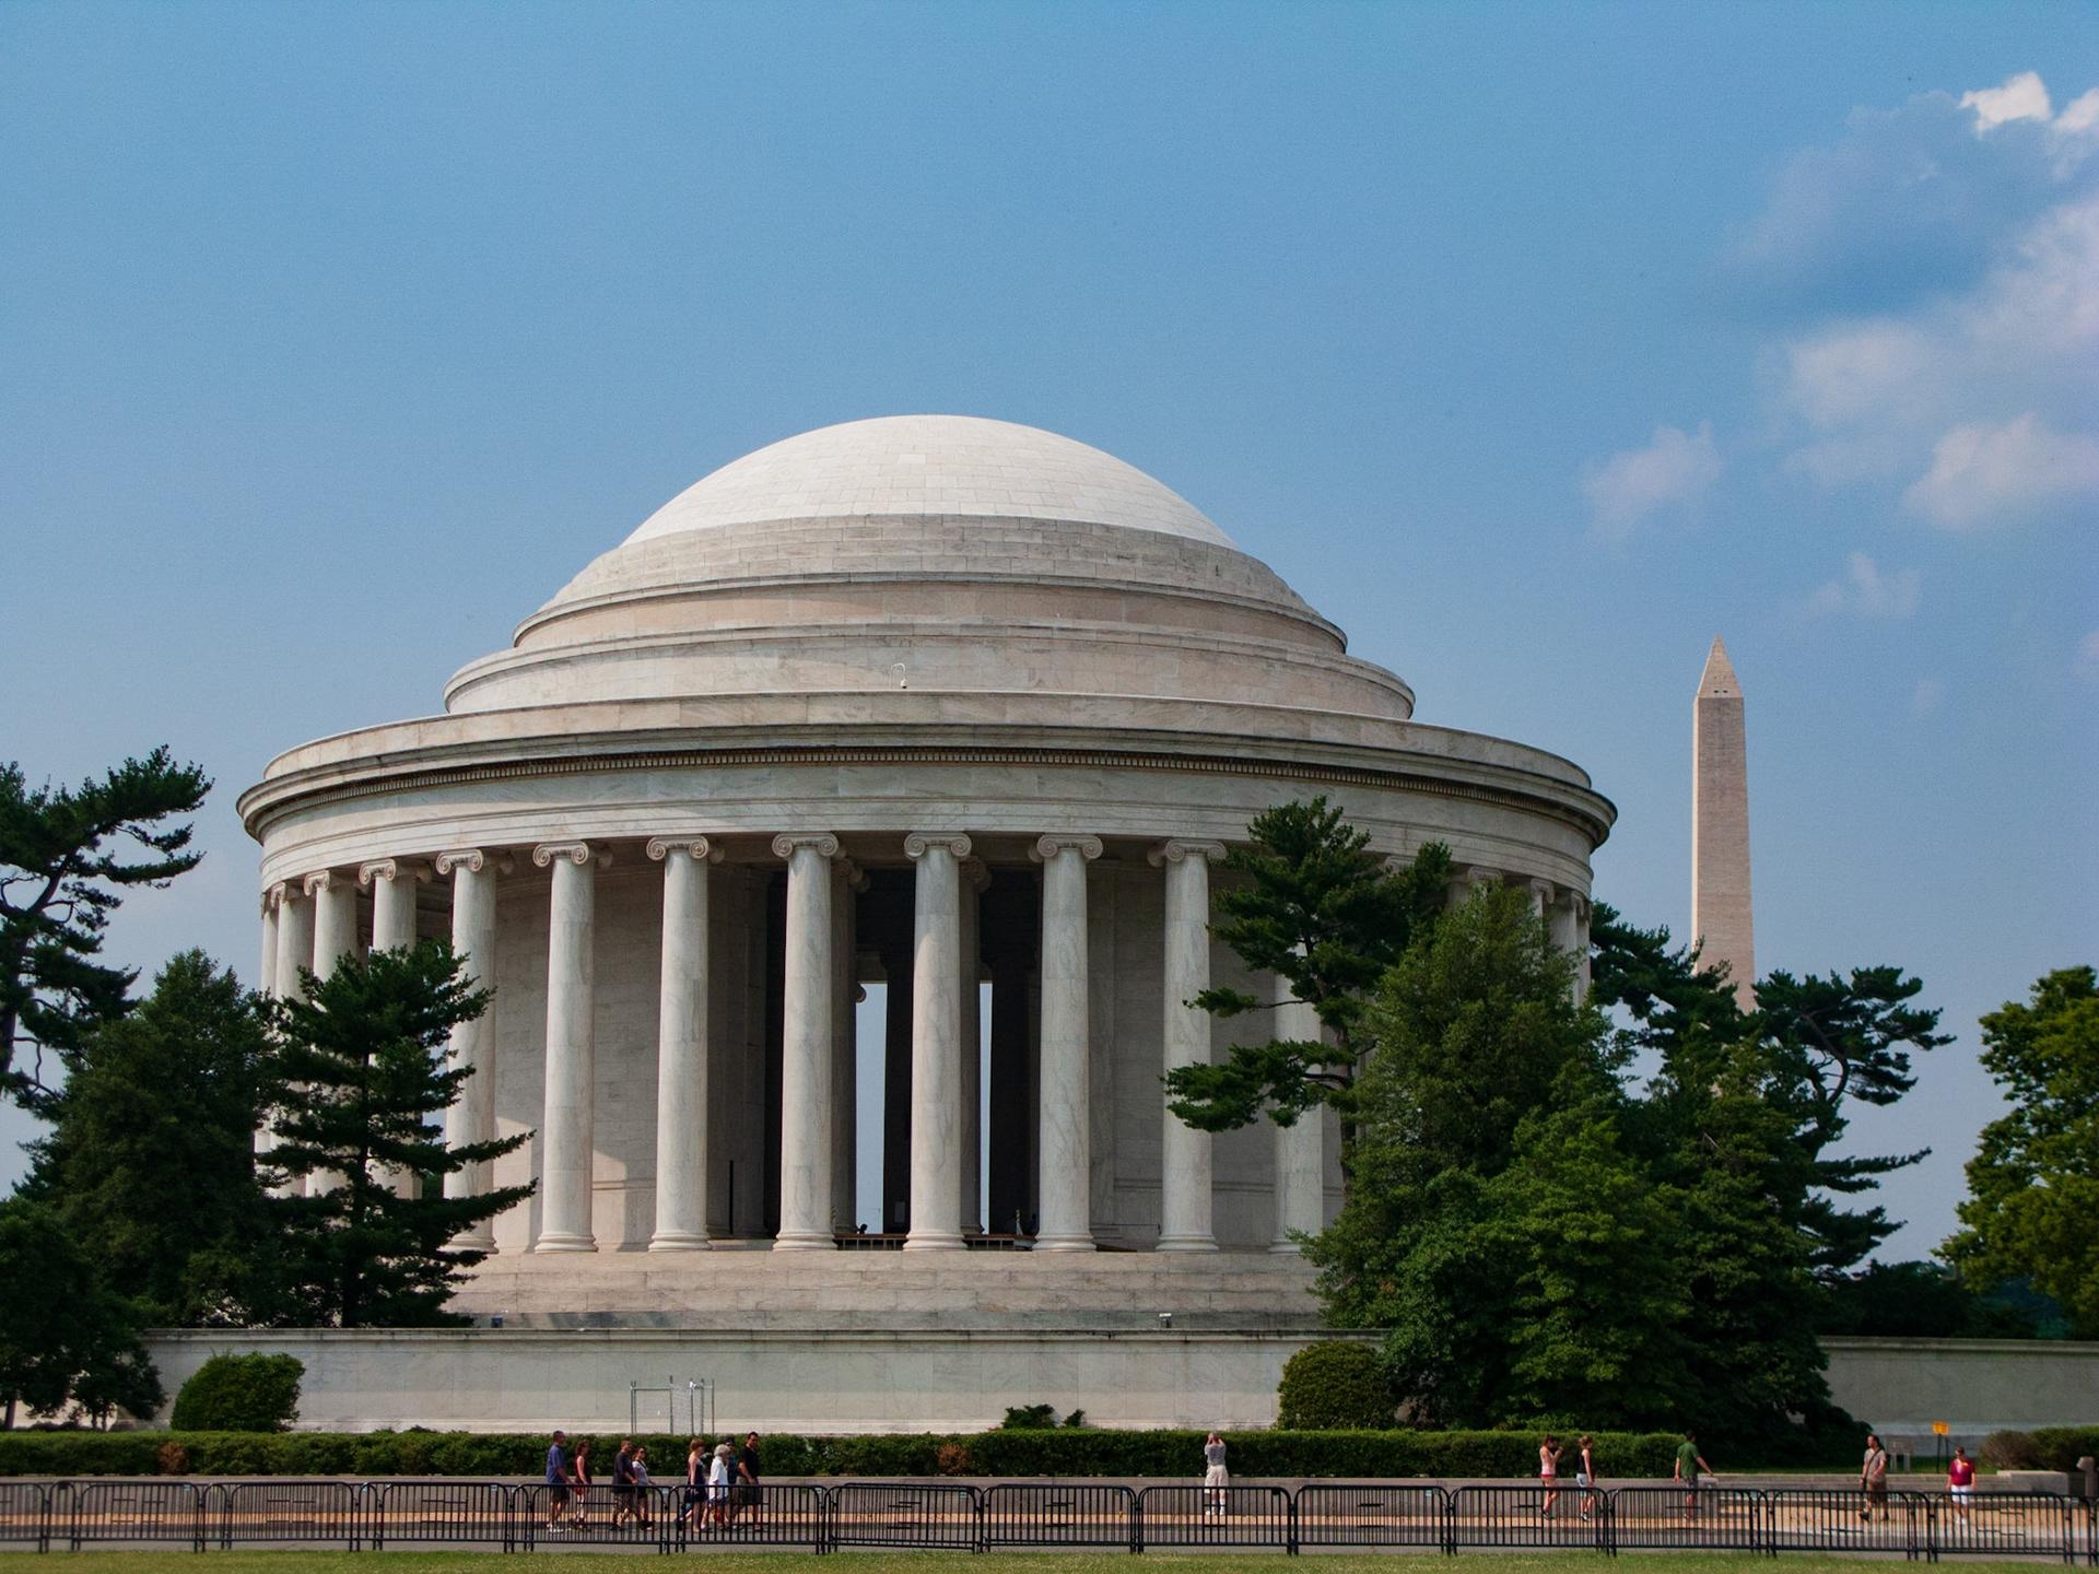
<path fill-rule="evenodd" d="M 1975 1289 L 2032 1280 L 2076 1337 L 2099 1339 L 2099 976 L 2044 974 L 1981 1018 L 1981 1043 L 2011 1112 L 1981 1129 L 1942 1253 Z"/>

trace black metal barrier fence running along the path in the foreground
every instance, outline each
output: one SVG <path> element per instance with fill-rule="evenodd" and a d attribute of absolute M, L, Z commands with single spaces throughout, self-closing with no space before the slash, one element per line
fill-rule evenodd
<path fill-rule="evenodd" d="M 1308 1482 L 844 1482 L 588 1492 L 506 1482 L 0 1482 L 0 1545 L 82 1547 L 1148 1547 L 1497 1551 L 1858 1551 L 2047 1557 L 2099 1568 L 2099 1503 L 2047 1494 L 1826 1488 Z"/>

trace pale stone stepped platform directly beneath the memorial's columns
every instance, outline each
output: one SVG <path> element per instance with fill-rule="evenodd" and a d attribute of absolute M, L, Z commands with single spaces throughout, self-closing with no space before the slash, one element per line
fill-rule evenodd
<path fill-rule="evenodd" d="M 451 1305 L 516 1328 L 1310 1333 L 1310 1286 L 1270 1253 L 619 1251 L 489 1257 Z"/>

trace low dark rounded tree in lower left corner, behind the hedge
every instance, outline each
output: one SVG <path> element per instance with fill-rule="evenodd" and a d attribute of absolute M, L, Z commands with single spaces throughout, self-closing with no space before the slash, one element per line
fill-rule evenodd
<path fill-rule="evenodd" d="M 149 1417 L 164 1400 L 132 1307 L 42 1203 L 0 1200 L 0 1427 L 17 1406 L 78 1404 L 105 1423 Z"/>

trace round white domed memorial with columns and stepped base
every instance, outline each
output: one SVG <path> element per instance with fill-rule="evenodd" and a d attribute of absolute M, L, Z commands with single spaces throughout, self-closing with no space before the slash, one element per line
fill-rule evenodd
<path fill-rule="evenodd" d="M 623 1421 L 638 1377 L 701 1368 L 764 1389 L 716 1377 L 724 1419 L 800 1429 L 1266 1419 L 1238 1410 L 1272 1415 L 1316 1331 L 1293 1234 L 1341 1173 L 1331 1119 L 1211 1137 L 1165 1108 L 1171 1066 L 1316 1030 L 1186 1003 L 1276 995 L 1209 936 L 1226 848 L 1324 793 L 1587 951 L 1612 806 L 1413 709 L 1064 437 L 900 416 L 705 476 L 441 716 L 290 749 L 241 797 L 264 988 L 449 936 L 495 991 L 451 1045 L 451 1135 L 533 1133 L 453 1177 L 537 1182 L 470 1242 L 476 1326 L 336 1335 L 365 1354 L 321 1360 L 309 1419 L 588 1423 L 611 1389 Z M 527 1347 L 552 1375 L 518 1391 L 489 1362 Z"/>

